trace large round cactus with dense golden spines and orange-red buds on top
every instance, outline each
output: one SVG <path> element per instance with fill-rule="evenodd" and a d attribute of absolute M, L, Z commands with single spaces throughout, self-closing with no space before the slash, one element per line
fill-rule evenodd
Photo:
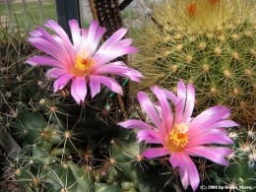
<path fill-rule="evenodd" d="M 154 22 L 144 25 L 136 66 L 144 86 L 175 91 L 178 80 L 192 83 L 198 112 L 224 104 L 241 123 L 255 122 L 256 29 L 254 2 L 163 0 L 154 5 Z M 213 5 L 212 5 L 213 4 Z M 189 8 L 189 7 L 188 7 Z M 221 16 L 224 16 L 223 18 Z"/>

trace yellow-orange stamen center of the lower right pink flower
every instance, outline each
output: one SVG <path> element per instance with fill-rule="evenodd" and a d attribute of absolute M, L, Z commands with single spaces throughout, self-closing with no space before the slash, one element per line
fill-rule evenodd
<path fill-rule="evenodd" d="M 188 124 L 175 124 L 166 139 L 166 146 L 170 152 L 180 152 L 187 145 Z"/>

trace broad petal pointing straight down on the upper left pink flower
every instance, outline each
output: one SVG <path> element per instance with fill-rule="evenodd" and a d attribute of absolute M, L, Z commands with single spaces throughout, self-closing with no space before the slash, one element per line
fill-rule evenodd
<path fill-rule="evenodd" d="M 73 78 L 71 95 L 75 98 L 77 103 L 80 103 L 80 101 L 85 101 L 87 96 L 87 83 L 85 77 Z"/>

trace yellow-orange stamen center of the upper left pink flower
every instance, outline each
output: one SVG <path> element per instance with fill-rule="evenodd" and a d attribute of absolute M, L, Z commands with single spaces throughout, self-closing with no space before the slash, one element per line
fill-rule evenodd
<path fill-rule="evenodd" d="M 89 55 L 89 52 L 82 49 L 77 54 L 76 63 L 72 68 L 72 74 L 75 76 L 85 76 L 95 64 L 96 62 Z"/>

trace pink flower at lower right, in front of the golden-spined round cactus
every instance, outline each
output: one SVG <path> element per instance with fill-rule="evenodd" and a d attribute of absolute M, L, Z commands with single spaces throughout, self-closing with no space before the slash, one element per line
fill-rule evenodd
<path fill-rule="evenodd" d="M 213 106 L 192 118 L 195 90 L 192 85 L 186 87 L 182 81 L 177 85 L 177 96 L 158 87 L 151 90 L 158 102 L 153 103 L 143 92 L 138 93 L 138 99 L 152 123 L 131 119 L 119 125 L 127 129 L 138 129 L 139 142 L 160 144 L 160 147 L 147 149 L 142 156 L 152 159 L 169 155 L 172 167 L 179 168 L 183 187 L 186 189 L 190 184 L 195 191 L 200 182 L 199 174 L 189 156 L 204 157 L 227 165 L 224 157 L 231 154 L 232 150 L 212 145 L 233 144 L 224 128 L 238 124 L 227 120 L 230 112 L 222 105 Z M 174 112 L 167 99 L 173 102 Z"/>

